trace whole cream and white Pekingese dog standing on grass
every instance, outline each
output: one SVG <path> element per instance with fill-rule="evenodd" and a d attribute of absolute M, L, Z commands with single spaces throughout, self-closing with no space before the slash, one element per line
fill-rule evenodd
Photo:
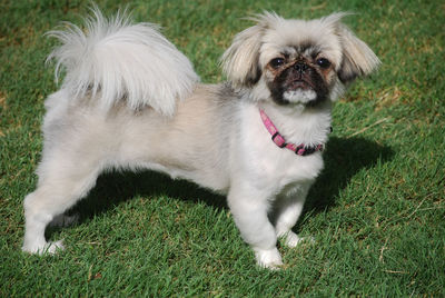
<path fill-rule="evenodd" d="M 323 168 L 332 105 L 379 64 L 334 13 L 285 20 L 265 12 L 221 58 L 228 82 L 202 85 L 189 60 L 150 23 L 92 9 L 81 30 L 51 31 L 63 83 L 46 101 L 36 191 L 24 199 L 22 249 L 55 252 L 44 229 L 107 169 L 149 169 L 226 193 L 261 267 L 295 247 L 296 224 Z M 150 181 L 147 181 L 150 182 Z"/>

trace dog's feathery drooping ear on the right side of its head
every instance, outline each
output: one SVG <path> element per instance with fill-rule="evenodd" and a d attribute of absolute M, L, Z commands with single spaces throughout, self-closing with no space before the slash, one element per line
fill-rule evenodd
<path fill-rule="evenodd" d="M 339 19 L 347 13 L 334 13 L 327 19 L 336 20 L 336 32 L 343 48 L 343 61 L 338 69 L 338 78 L 343 83 L 352 82 L 357 77 L 372 73 L 380 60 L 369 47 L 358 39 Z"/>

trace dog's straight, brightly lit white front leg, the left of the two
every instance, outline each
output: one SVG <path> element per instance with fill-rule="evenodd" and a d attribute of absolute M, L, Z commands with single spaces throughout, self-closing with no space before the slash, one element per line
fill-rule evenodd
<path fill-rule="evenodd" d="M 276 247 L 277 236 L 269 221 L 269 193 L 249 183 L 233 186 L 228 193 L 228 205 L 243 239 L 255 251 L 260 267 L 277 269 L 283 265 Z"/>

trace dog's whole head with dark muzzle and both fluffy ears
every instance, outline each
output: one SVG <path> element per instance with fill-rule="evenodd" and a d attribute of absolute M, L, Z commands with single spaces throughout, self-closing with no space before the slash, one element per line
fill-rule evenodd
<path fill-rule="evenodd" d="M 344 85 L 370 73 L 374 52 L 344 24 L 343 13 L 303 21 L 271 13 L 240 32 L 222 57 L 224 70 L 255 100 L 317 106 L 336 100 Z"/>

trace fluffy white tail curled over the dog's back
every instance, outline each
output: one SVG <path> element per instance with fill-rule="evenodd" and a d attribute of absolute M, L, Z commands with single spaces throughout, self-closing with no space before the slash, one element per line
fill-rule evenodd
<path fill-rule="evenodd" d="M 106 108 L 126 100 L 131 109 L 150 106 L 171 116 L 177 100 L 199 81 L 190 61 L 151 23 L 131 24 L 127 13 L 107 19 L 97 7 L 86 18 L 86 32 L 72 23 L 48 32 L 61 41 L 55 59 L 56 80 L 66 71 L 62 88 L 75 98 L 87 93 Z"/>

